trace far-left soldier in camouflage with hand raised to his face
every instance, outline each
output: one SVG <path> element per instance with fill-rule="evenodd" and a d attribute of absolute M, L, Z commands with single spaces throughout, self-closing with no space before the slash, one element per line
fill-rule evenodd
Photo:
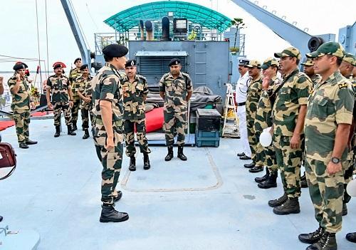
<path fill-rule="evenodd" d="M 37 143 L 28 139 L 30 110 L 31 108 L 35 108 L 35 106 L 30 97 L 30 83 L 28 83 L 26 78 L 25 68 L 24 63 L 16 63 L 14 66 L 15 75 L 8 81 L 12 97 L 11 110 L 14 112 L 13 118 L 16 125 L 16 135 L 19 147 L 21 148 L 28 148 L 28 145 Z"/>

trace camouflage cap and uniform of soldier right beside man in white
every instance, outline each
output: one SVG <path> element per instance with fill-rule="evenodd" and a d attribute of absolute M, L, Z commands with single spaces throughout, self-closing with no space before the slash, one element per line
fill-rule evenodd
<path fill-rule="evenodd" d="M 250 61 L 252 65 L 254 60 Z M 256 62 L 256 61 L 255 61 Z M 258 63 L 261 66 L 261 63 Z M 246 120 L 247 120 L 247 134 L 248 134 L 248 143 L 251 148 L 251 159 L 257 166 L 263 166 L 264 162 L 264 152 L 263 147 L 259 143 L 259 137 L 262 131 L 256 131 L 254 127 L 258 100 L 262 93 L 262 78 L 261 75 L 258 75 L 258 78 L 255 80 L 251 79 L 250 85 L 248 86 L 247 100 L 246 100 Z"/>

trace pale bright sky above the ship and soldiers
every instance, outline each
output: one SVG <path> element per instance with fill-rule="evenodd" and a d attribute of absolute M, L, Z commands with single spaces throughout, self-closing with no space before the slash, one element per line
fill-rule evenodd
<path fill-rule="evenodd" d="M 1 39 L 0 55 L 19 58 L 38 58 L 38 39 L 36 26 L 36 0 L 0 1 Z M 103 23 L 108 17 L 132 6 L 145 4 L 145 0 L 72 0 L 75 12 L 83 28 L 91 51 L 94 51 L 94 33 L 114 32 Z M 263 61 L 273 56 L 276 51 L 290 46 L 267 28 L 246 13 L 230 0 L 189 0 L 219 11 L 233 19 L 244 19 L 246 28 L 245 53 L 248 58 Z M 298 4 L 296 4 L 298 3 Z M 334 4 L 330 4 L 334 3 Z M 48 63 L 63 61 L 67 67 L 73 65 L 75 58 L 80 57 L 78 46 L 64 14 L 61 1 L 37 0 L 38 31 L 41 59 L 47 61 L 46 53 L 46 4 L 48 28 Z M 267 6 L 268 11 L 276 11 L 277 16 L 286 16 L 286 21 L 297 22 L 297 27 L 308 28 L 312 35 L 339 32 L 339 28 L 354 24 L 356 17 L 356 1 L 354 0 L 258 0 L 259 6 Z M 335 9 L 337 12 L 335 13 Z M 1 57 L 0 57 L 1 59 Z M 36 62 L 28 62 L 31 71 L 36 71 Z M 14 62 L 0 61 L 0 71 L 11 71 Z M 44 66 L 42 66 L 44 69 Z"/>

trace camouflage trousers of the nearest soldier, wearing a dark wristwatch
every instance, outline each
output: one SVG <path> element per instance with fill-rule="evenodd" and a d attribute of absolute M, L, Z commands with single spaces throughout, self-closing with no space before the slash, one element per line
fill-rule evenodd
<path fill-rule="evenodd" d="M 326 172 L 328 162 L 306 157 L 305 172 L 310 199 L 315 209 L 315 219 L 326 231 L 337 233 L 342 224 L 342 196 L 344 193 L 344 167 L 332 177 Z"/>

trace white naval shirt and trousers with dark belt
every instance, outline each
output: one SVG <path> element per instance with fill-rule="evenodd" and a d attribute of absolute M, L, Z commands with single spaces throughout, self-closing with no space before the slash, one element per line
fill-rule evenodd
<path fill-rule="evenodd" d="M 239 105 L 239 103 L 246 103 L 247 100 L 247 90 L 248 85 L 250 84 L 250 76 L 248 71 L 237 81 L 236 84 L 236 103 L 237 115 L 239 116 L 239 130 L 240 130 L 240 139 L 242 142 L 242 150 L 246 156 L 251 157 L 251 149 L 248 144 L 248 135 L 247 135 L 247 124 L 246 124 L 246 105 Z"/>

